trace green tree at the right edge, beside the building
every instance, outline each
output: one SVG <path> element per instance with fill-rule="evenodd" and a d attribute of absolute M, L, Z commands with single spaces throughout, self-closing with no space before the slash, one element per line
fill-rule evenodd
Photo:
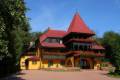
<path fill-rule="evenodd" d="M 115 32 L 104 33 L 102 44 L 106 48 L 106 56 L 116 67 L 115 72 L 120 71 L 120 34 Z"/>

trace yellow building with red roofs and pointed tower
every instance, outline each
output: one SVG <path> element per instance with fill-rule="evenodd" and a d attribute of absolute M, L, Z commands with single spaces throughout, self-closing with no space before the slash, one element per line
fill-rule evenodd
<path fill-rule="evenodd" d="M 76 13 L 67 31 L 48 29 L 35 42 L 35 54 L 21 56 L 21 69 L 100 69 L 104 48 Z M 27 55 L 28 54 L 28 55 Z"/>

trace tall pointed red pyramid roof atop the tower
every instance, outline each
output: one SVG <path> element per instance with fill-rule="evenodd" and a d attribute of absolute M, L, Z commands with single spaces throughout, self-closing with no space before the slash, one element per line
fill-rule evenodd
<path fill-rule="evenodd" d="M 76 33 L 87 33 L 87 34 L 95 34 L 92 30 L 88 28 L 88 26 L 84 23 L 79 13 L 76 13 L 72 19 L 72 22 L 68 28 L 68 33 L 76 32 Z"/>

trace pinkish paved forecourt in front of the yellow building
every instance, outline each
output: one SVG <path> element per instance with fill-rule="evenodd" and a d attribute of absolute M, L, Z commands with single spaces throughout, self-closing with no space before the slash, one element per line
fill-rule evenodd
<path fill-rule="evenodd" d="M 21 73 L 5 80 L 120 80 L 108 77 L 106 71 L 81 70 L 80 72 L 47 72 L 40 70 L 23 70 Z"/>

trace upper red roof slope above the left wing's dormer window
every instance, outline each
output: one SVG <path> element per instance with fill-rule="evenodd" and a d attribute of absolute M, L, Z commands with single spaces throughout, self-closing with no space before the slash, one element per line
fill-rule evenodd
<path fill-rule="evenodd" d="M 65 31 L 49 29 L 47 32 L 45 32 L 43 35 L 40 36 L 40 42 L 44 41 L 48 37 L 60 37 L 60 38 L 62 38 L 65 34 L 66 34 Z"/>

